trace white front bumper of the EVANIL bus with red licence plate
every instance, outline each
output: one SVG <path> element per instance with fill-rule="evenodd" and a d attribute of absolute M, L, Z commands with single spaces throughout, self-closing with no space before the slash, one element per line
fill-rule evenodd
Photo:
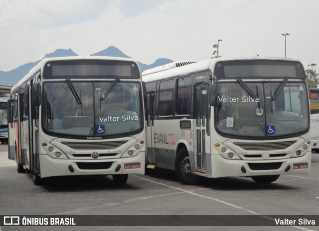
<path fill-rule="evenodd" d="M 281 164 L 280 164 L 281 163 Z M 232 160 L 211 155 L 211 177 L 310 174 L 311 152 L 304 156 L 272 160 Z"/>

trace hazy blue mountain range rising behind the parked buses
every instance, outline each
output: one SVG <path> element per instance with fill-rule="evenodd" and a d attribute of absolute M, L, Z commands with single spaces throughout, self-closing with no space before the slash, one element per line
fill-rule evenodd
<path fill-rule="evenodd" d="M 66 57 L 66 56 L 78 56 L 78 55 L 74 53 L 71 49 L 67 49 L 67 50 L 57 49 L 52 53 L 46 54 L 43 58 Z M 94 53 L 92 54 L 92 56 L 111 56 L 111 57 L 131 58 L 114 46 L 110 46 L 105 50 Z M 29 72 L 29 70 L 33 68 L 41 60 L 31 62 L 31 63 L 26 63 L 8 72 L 0 71 L 0 85 L 13 86 L 15 83 L 19 81 L 19 79 L 24 77 Z M 150 64 L 150 65 L 143 64 L 141 62 L 138 62 L 138 63 L 139 63 L 141 72 L 143 72 L 146 69 L 162 66 L 164 64 L 168 64 L 171 62 L 173 61 L 170 59 L 161 58 L 161 59 L 157 59 L 153 64 Z"/>

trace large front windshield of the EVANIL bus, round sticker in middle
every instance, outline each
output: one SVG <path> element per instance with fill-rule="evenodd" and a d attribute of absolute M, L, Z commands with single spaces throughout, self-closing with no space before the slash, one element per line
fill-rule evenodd
<path fill-rule="evenodd" d="M 302 82 L 218 83 L 216 128 L 225 136 L 270 137 L 309 128 Z"/>

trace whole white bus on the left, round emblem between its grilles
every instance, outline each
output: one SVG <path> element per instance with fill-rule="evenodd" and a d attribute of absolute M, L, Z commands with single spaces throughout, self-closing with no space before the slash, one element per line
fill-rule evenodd
<path fill-rule="evenodd" d="M 145 88 L 145 84 L 144 84 Z M 11 90 L 9 157 L 18 172 L 46 177 L 144 174 L 146 131 L 137 62 L 45 58 Z"/>

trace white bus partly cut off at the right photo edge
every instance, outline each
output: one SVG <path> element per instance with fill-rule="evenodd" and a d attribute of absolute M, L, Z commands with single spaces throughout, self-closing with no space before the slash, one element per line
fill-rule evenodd
<path fill-rule="evenodd" d="M 309 88 L 311 118 L 311 148 L 319 152 L 319 89 Z"/>

